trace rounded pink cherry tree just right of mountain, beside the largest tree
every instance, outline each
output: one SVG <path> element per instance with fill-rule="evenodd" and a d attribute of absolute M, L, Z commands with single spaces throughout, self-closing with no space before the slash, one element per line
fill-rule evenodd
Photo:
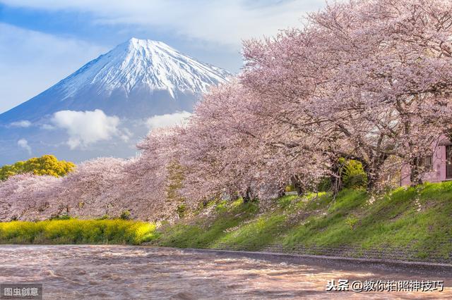
<path fill-rule="evenodd" d="M 196 107 L 180 143 L 189 170 L 188 197 L 204 191 L 204 198 L 229 194 L 262 200 L 278 195 L 294 175 L 307 175 L 304 183 L 318 179 L 321 159 L 294 151 L 294 145 L 311 142 L 309 135 L 297 137 L 290 127 L 276 126 L 255 96 L 232 82 L 205 95 Z"/>

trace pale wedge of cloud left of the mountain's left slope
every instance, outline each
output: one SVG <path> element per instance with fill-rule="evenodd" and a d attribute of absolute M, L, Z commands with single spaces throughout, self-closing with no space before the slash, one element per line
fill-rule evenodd
<path fill-rule="evenodd" d="M 36 96 L 106 50 L 0 22 L 0 113 Z"/>

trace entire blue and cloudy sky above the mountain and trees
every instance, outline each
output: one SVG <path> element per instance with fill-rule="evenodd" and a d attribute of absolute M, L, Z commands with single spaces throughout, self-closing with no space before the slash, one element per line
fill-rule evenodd
<path fill-rule="evenodd" d="M 243 39 L 299 26 L 325 0 L 0 0 L 0 113 L 130 37 L 238 72 Z"/>

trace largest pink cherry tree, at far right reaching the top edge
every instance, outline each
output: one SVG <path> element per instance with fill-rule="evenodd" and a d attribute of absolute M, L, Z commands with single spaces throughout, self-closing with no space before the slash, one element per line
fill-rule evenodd
<path fill-rule="evenodd" d="M 269 99 L 269 117 L 309 116 L 333 161 L 361 161 L 372 187 L 389 156 L 411 163 L 431 151 L 439 117 L 451 115 L 450 7 L 421 0 L 327 6 L 302 30 L 246 43 L 243 82 Z M 275 102 L 282 107 L 272 111 Z"/>

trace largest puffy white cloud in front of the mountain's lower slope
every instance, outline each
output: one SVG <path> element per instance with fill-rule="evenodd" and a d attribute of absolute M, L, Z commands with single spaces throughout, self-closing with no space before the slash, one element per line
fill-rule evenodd
<path fill-rule="evenodd" d="M 66 130 L 69 135 L 67 144 L 71 149 L 88 146 L 95 142 L 118 136 L 124 139 L 119 130 L 119 118 L 105 115 L 100 109 L 95 111 L 58 111 L 54 113 L 52 123 Z"/>

